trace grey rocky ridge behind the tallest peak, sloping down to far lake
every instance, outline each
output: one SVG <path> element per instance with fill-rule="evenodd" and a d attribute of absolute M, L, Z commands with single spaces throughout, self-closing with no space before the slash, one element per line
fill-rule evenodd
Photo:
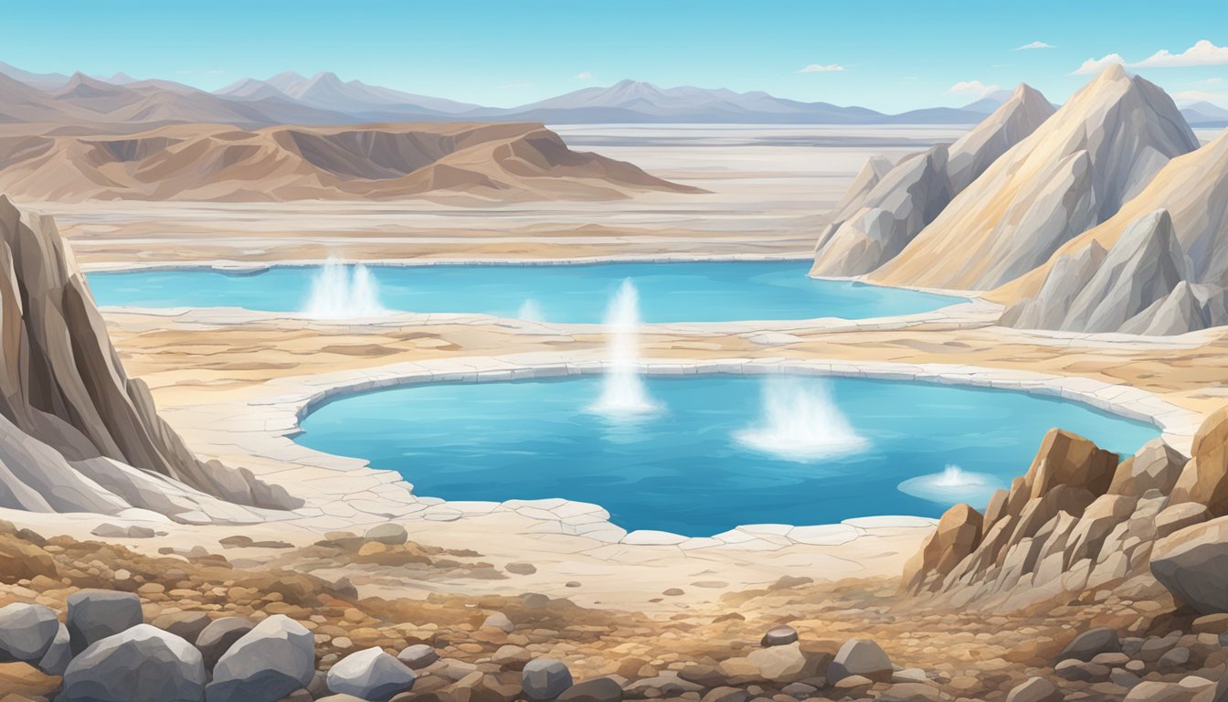
<path fill-rule="evenodd" d="M 938 145 L 885 170 L 862 167 L 819 235 L 812 275 L 861 275 L 890 261 L 998 156 L 1035 130 L 1054 108 L 1020 85 L 981 124 L 949 148 Z"/>

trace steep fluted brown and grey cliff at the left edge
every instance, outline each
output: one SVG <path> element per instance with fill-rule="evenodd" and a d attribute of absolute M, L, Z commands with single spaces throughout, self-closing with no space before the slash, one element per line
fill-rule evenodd
<path fill-rule="evenodd" d="M 0 507 L 184 521 L 297 507 L 243 468 L 201 462 L 129 379 L 50 218 L 0 197 Z"/>

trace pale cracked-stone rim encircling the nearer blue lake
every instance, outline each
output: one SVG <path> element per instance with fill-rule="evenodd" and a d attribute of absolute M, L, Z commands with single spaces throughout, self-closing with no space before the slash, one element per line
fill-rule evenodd
<path fill-rule="evenodd" d="M 426 382 L 494 382 L 517 379 L 566 377 L 573 375 L 600 374 L 607 364 L 602 360 L 569 360 L 549 358 L 550 354 L 526 353 L 508 357 L 480 357 L 465 359 L 436 359 L 392 364 L 377 369 L 351 370 L 325 374 L 321 376 L 286 377 L 265 384 L 269 392 L 249 397 L 241 407 L 225 403 L 219 407 L 176 409 L 178 422 L 189 420 L 199 427 L 210 427 L 196 432 L 196 435 L 220 433 L 205 445 L 195 441 L 195 450 L 214 455 L 225 446 L 242 454 L 260 456 L 281 465 L 300 466 L 307 471 L 325 471 L 325 481 L 333 489 L 322 489 L 308 498 L 308 507 L 297 510 L 300 523 L 311 530 L 328 530 L 336 524 L 332 519 L 322 519 L 329 511 L 330 503 L 345 503 L 354 509 L 354 525 L 362 524 L 360 515 L 366 513 L 372 524 L 387 520 L 395 514 L 397 521 L 456 521 L 465 518 L 490 515 L 500 511 L 515 511 L 530 516 L 532 531 L 545 529 L 556 534 L 585 536 L 604 545 L 619 546 L 675 546 L 688 551 L 713 546 L 747 546 L 748 542 L 765 541 L 761 546 L 780 546 L 787 543 L 831 545 L 836 538 L 844 543 L 846 537 L 856 537 L 841 524 L 814 525 L 738 525 L 725 532 L 688 537 L 683 535 L 639 530 L 626 531 L 609 521 L 609 514 L 596 504 L 566 500 L 562 498 L 546 500 L 505 500 L 473 502 L 446 500 L 441 498 L 419 497 L 413 492 L 413 484 L 399 472 L 372 468 L 363 459 L 336 456 L 308 449 L 293 441 L 300 433 L 300 420 L 321 404 L 344 396 L 383 390 L 391 387 L 418 385 Z M 721 359 L 721 360 L 645 360 L 641 368 L 647 375 L 768 375 L 798 374 L 812 376 L 869 377 L 910 382 L 937 382 L 946 385 L 964 385 L 989 387 L 1002 391 L 1027 392 L 1033 395 L 1057 397 L 1060 400 L 1081 402 L 1103 412 L 1122 418 L 1149 422 L 1160 429 L 1163 439 L 1174 449 L 1187 454 L 1194 432 L 1201 417 L 1191 411 L 1176 407 L 1147 391 L 1115 386 L 1089 379 L 1051 376 L 1033 371 L 1005 371 L 969 365 L 942 364 L 904 364 L 904 363 L 847 363 L 824 360 L 787 360 L 787 359 Z M 236 412 L 238 409 L 238 412 Z M 239 417 L 235 425 L 216 425 L 216 419 L 223 414 Z M 246 424 L 247 430 L 242 428 Z M 252 430 L 255 425 L 259 429 Z M 263 477 L 278 481 L 276 475 Z M 317 473 L 317 477 L 323 477 Z M 361 499 L 352 497 L 354 482 L 378 479 L 378 497 L 366 492 Z M 278 481 L 280 482 L 280 481 Z M 301 487 L 297 481 L 284 482 L 287 488 Z M 292 491 L 293 492 L 293 491 Z M 399 513 L 399 514 L 398 514 Z M 926 527 L 933 524 L 931 518 L 907 515 L 879 515 L 866 518 L 887 520 L 892 526 Z M 549 525 L 548 523 L 554 523 Z M 313 529 L 313 525 L 316 527 Z"/>

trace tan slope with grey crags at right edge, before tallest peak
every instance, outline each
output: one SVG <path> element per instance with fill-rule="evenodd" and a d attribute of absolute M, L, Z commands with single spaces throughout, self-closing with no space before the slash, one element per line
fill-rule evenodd
<path fill-rule="evenodd" d="M 1228 133 L 992 296 L 1008 304 L 1007 326 L 1179 334 L 1228 323 L 1226 288 Z"/>

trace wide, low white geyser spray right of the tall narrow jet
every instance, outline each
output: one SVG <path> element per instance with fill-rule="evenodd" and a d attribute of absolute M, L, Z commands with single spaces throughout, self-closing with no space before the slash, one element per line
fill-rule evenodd
<path fill-rule="evenodd" d="M 836 407 L 825 385 L 788 376 L 764 382 L 760 423 L 737 432 L 734 439 L 791 461 L 846 456 L 869 446 Z"/>

